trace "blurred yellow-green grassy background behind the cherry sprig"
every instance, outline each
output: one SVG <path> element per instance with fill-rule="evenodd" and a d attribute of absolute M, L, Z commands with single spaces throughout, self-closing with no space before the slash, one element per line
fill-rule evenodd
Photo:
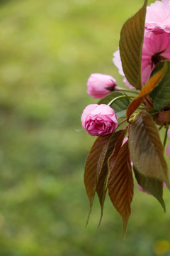
<path fill-rule="evenodd" d="M 89 211 L 83 174 L 94 142 L 81 129 L 91 73 L 113 75 L 120 28 L 141 0 L 0 1 L 0 255 L 170 255 L 166 214 L 138 191 L 123 241 L 106 199 Z M 150 2 L 149 2 L 150 3 Z"/>

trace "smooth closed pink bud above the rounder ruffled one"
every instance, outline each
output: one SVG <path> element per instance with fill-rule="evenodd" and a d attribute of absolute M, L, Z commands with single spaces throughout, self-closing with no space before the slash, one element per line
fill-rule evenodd
<path fill-rule="evenodd" d="M 115 90 L 116 80 L 111 75 L 91 74 L 87 82 L 87 93 L 94 98 L 102 98 Z"/>

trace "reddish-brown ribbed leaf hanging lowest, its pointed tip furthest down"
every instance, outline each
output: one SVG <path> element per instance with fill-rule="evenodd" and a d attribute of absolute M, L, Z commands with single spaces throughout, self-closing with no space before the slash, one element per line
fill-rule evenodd
<path fill-rule="evenodd" d="M 113 206 L 123 218 L 124 235 L 130 217 L 130 204 L 133 198 L 133 178 L 128 142 L 121 147 L 113 169 L 108 177 L 108 194 Z"/>

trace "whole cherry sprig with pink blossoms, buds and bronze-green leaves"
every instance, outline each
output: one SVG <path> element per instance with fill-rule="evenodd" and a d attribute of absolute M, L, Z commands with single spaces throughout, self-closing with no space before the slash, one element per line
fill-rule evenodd
<path fill-rule="evenodd" d="M 127 89 L 118 87 L 111 75 L 94 73 L 87 82 L 87 93 L 100 101 L 81 114 L 82 127 L 98 136 L 86 160 L 84 183 L 90 211 L 97 192 L 103 212 L 108 189 L 125 231 L 132 171 L 140 191 L 152 194 L 164 210 L 163 187 L 170 188 L 164 159 L 164 148 L 170 159 L 170 0 L 150 6 L 145 0 L 124 24 L 113 63 Z M 162 127 L 164 139 L 159 137 Z"/>

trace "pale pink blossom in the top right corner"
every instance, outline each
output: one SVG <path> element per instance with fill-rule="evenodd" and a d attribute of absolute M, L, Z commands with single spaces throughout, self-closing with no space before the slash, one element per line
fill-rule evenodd
<path fill-rule="evenodd" d="M 170 33 L 170 1 L 155 1 L 147 6 L 145 28 L 154 33 Z"/>

